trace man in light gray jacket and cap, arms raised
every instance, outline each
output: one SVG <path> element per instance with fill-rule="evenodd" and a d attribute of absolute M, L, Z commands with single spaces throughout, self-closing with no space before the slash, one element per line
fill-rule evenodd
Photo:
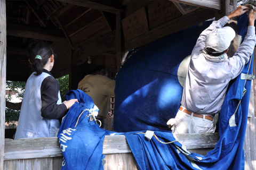
<path fill-rule="evenodd" d="M 191 53 L 181 106 L 175 118 L 167 125 L 173 133 L 213 133 L 216 125 L 214 115 L 220 113 L 228 83 L 235 79 L 249 62 L 255 46 L 256 10 L 249 13 L 249 26 L 243 43 L 233 57 L 228 58 L 230 42 L 235 31 L 223 27 L 231 18 L 249 11 L 249 7 L 238 6 L 228 16 L 205 29 Z"/>

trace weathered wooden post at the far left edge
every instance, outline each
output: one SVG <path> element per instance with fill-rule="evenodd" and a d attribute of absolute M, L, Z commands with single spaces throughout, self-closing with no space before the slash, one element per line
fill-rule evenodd
<path fill-rule="evenodd" d="M 0 1 L 0 169 L 4 168 L 5 80 L 6 80 L 6 7 Z"/>

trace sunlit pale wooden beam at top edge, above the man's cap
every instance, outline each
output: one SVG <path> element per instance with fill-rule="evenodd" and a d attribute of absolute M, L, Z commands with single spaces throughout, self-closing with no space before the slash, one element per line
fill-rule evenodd
<path fill-rule="evenodd" d="M 159 1 L 159 0 L 158 0 Z M 202 8 L 213 8 L 215 10 L 221 10 L 221 0 L 168 0 L 172 2 L 188 4 L 191 6 L 198 6 Z"/>

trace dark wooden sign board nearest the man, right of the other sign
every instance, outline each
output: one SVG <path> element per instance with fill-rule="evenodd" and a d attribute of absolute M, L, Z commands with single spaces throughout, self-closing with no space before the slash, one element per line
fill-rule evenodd
<path fill-rule="evenodd" d="M 171 1 L 154 1 L 148 5 L 149 28 L 155 28 L 182 14 Z"/>

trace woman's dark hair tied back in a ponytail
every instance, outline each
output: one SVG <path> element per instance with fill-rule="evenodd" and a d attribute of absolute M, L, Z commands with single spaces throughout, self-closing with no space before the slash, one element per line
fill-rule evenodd
<path fill-rule="evenodd" d="M 35 75 L 40 75 L 43 72 L 43 66 L 53 54 L 53 50 L 46 41 L 36 39 L 31 39 L 28 42 L 27 49 L 29 61 L 32 63 L 33 69 L 36 71 Z M 41 56 L 42 60 L 38 58 L 35 59 L 37 55 Z"/>

